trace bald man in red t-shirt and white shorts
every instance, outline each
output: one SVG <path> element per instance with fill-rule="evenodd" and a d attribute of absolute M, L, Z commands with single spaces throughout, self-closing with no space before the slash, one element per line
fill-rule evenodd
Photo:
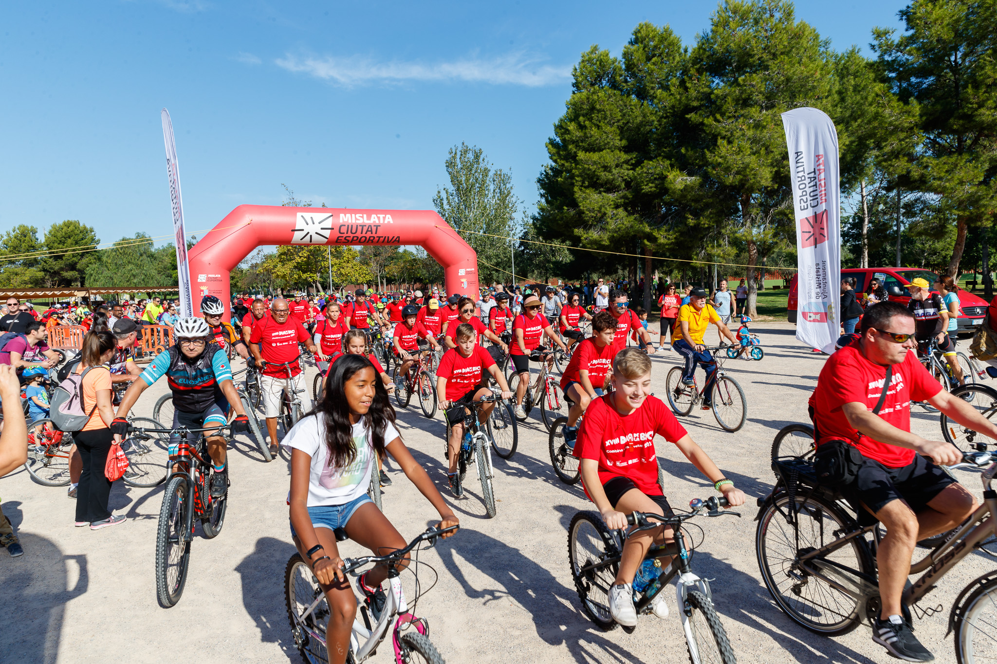
<path fill-rule="evenodd" d="M 256 365 L 262 367 L 259 379 L 263 389 L 263 414 L 266 417 L 266 430 L 270 434 L 270 454 L 274 456 L 278 452 L 277 415 L 280 414 L 280 400 L 286 389 L 285 379 L 288 371 L 293 389 L 297 391 L 297 396 L 302 401 L 301 409 L 306 412 L 311 409 L 305 374 L 297 359 L 301 354 L 298 343 L 304 343 L 319 360 L 325 360 L 325 354 L 308 336 L 304 326 L 290 316 L 287 301 L 275 298 L 270 304 L 269 318 L 257 322 L 249 334 L 249 350 L 256 360 Z M 290 364 L 281 365 L 286 362 Z M 293 393 L 289 393 L 288 396 L 295 398 Z"/>

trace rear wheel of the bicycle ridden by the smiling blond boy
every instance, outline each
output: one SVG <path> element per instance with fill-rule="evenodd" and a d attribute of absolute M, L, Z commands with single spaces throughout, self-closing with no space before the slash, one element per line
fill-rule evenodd
<path fill-rule="evenodd" d="M 595 512 L 579 512 L 567 528 L 567 561 L 581 610 L 599 629 L 616 629 L 609 614 L 609 588 L 619 569 L 619 548 Z M 615 558 L 604 566 L 600 563 Z"/>

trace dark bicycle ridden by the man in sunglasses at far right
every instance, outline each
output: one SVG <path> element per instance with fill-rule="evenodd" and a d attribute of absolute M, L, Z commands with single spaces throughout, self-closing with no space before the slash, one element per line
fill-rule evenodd
<path fill-rule="evenodd" d="M 985 467 L 981 475 L 983 504 L 911 564 L 910 573 L 920 577 L 903 591 L 902 612 L 908 623 L 911 607 L 919 617 L 941 610 L 941 606 L 921 608 L 917 603 L 963 557 L 975 549 L 997 555 L 997 551 L 987 549 L 993 548 L 997 534 L 991 518 L 997 514 L 997 498 L 990 489 L 997 475 L 994 461 L 997 455 L 991 452 L 964 453 L 962 463 L 950 467 Z M 755 547 L 762 578 L 773 599 L 790 619 L 817 634 L 836 636 L 850 632 L 863 620 L 871 622 L 880 607 L 875 553 L 882 529 L 878 523 L 862 525 L 858 517 L 863 515 L 839 492 L 817 481 L 808 457 L 783 454 L 772 467 L 777 482 L 759 501 Z M 871 542 L 867 535 L 871 535 Z M 994 652 L 988 626 L 997 620 L 997 605 L 990 596 L 994 589 L 997 572 L 992 571 L 971 581 L 953 604 L 949 626 L 955 631 L 955 654 L 960 664 L 975 662 L 977 649 Z M 987 610 L 990 612 L 984 615 Z M 979 642 L 974 640 L 977 635 Z"/>

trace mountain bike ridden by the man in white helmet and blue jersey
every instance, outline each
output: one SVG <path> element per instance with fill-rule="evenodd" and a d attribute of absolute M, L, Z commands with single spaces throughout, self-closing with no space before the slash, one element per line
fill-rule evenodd
<path fill-rule="evenodd" d="M 224 525 L 228 491 L 221 498 L 213 498 L 208 490 L 214 466 L 207 454 L 204 432 L 227 433 L 231 439 L 229 426 L 146 430 L 178 437 L 176 453 L 170 458 L 175 470 L 166 481 L 156 533 L 156 593 L 164 608 L 174 606 L 183 594 L 195 520 L 200 521 L 201 533 L 207 540 L 216 537 Z M 197 434 L 197 439 L 191 442 L 187 434 Z"/>

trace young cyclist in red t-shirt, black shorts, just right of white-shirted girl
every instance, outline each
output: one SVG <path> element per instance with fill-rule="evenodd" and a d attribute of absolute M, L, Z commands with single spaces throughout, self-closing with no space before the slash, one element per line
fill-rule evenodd
<path fill-rule="evenodd" d="M 440 366 L 437 368 L 437 395 L 450 423 L 450 439 L 447 443 L 450 470 L 447 471 L 447 478 L 450 480 L 451 493 L 460 498 L 464 495 L 464 489 L 461 487 L 461 475 L 457 472 L 457 462 L 461 441 L 464 439 L 464 417 L 470 412 L 468 408 L 472 407 L 473 401 L 492 393 L 486 384 L 485 372 L 492 374 L 498 382 L 501 398 L 510 398 L 512 392 L 509 391 L 496 360 L 478 344 L 478 332 L 472 326 L 461 324 L 452 333 L 457 336 L 457 347 L 445 352 L 440 359 Z M 488 421 L 495 405 L 495 401 L 481 404 L 478 408 L 479 421 Z"/>

